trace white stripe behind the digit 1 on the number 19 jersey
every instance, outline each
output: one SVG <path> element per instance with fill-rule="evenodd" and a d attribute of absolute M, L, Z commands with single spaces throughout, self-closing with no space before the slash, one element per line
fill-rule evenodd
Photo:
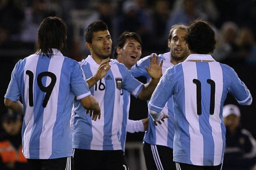
<path fill-rule="evenodd" d="M 24 80 L 25 87 L 29 87 L 29 78 L 28 78 L 28 75 L 26 74 L 26 71 L 36 70 L 38 57 L 35 57 L 35 56 L 36 55 L 29 56 L 27 58 L 26 65 L 24 67 L 23 80 Z M 33 82 L 35 82 L 35 76 L 34 76 Z M 34 89 L 34 83 L 33 83 L 33 89 Z M 25 98 L 25 101 L 29 101 L 28 88 L 25 88 L 24 90 L 24 98 Z M 33 102 L 34 102 L 34 98 L 33 98 Z M 29 143 L 30 143 L 29 141 L 30 141 L 32 130 L 33 130 L 32 127 L 34 125 L 34 106 L 30 107 L 28 104 L 26 105 L 24 122 L 26 125 L 26 129 L 23 134 L 23 140 L 28 140 L 28 141 L 24 141 L 25 145 L 23 145 L 22 150 L 23 150 L 23 154 L 29 157 Z"/>

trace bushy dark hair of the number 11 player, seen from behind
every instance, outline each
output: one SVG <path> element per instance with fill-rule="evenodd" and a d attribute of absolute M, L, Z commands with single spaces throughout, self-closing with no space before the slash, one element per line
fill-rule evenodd
<path fill-rule="evenodd" d="M 215 33 L 210 24 L 201 19 L 192 22 L 188 27 L 185 41 L 191 52 L 197 54 L 210 54 L 215 49 Z"/>

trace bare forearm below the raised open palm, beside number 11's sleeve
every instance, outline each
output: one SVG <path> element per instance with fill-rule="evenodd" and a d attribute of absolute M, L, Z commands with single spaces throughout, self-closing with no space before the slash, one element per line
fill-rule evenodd
<path fill-rule="evenodd" d="M 138 97 L 142 100 L 149 100 L 159 80 L 160 79 L 151 79 L 147 84 L 144 85 L 144 88 L 141 90 Z"/>

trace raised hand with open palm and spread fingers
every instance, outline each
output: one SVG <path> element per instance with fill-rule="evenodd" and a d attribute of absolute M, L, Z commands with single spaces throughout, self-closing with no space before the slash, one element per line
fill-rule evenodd
<path fill-rule="evenodd" d="M 160 79 L 162 77 L 163 60 L 159 63 L 159 57 L 156 54 L 150 57 L 150 66 L 145 66 L 151 79 Z"/>

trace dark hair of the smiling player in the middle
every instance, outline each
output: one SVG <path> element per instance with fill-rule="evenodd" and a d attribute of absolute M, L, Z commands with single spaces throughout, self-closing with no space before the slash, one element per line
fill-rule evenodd
<path fill-rule="evenodd" d="M 117 39 L 116 48 L 117 48 L 117 47 L 123 48 L 126 39 L 129 39 L 129 38 L 132 38 L 132 39 L 138 41 L 138 43 L 140 43 L 140 45 L 142 46 L 142 41 L 141 41 L 140 35 L 138 35 L 138 33 L 136 33 L 136 32 L 124 31 L 124 32 L 119 36 L 119 38 Z M 115 57 L 115 58 L 117 57 L 116 49 L 115 49 L 114 57 Z"/>

